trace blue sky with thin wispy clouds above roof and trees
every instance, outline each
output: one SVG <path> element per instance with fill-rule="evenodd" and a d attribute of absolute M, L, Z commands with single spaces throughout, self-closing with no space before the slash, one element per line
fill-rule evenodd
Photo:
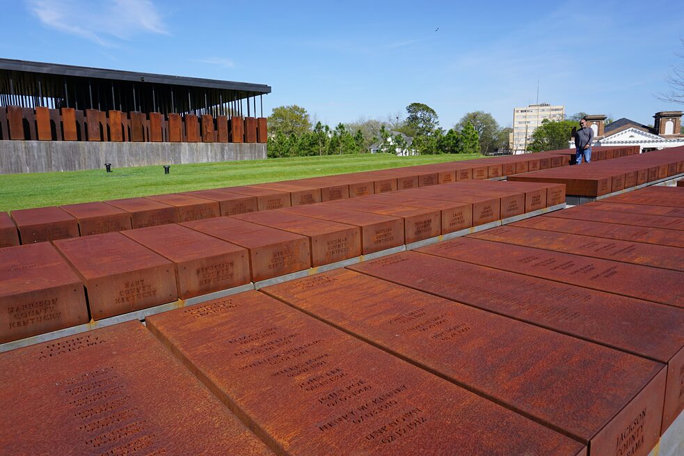
<path fill-rule="evenodd" d="M 0 57 L 271 86 L 334 126 L 427 104 L 470 111 L 562 104 L 653 123 L 684 68 L 684 8 L 642 1 L 0 0 Z M 258 104 L 257 104 L 258 109 Z"/>

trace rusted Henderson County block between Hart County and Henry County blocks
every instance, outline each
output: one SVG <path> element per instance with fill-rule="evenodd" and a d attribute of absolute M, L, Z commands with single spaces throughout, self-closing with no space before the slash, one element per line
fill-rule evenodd
<path fill-rule="evenodd" d="M 176 224 L 129 230 L 125 235 L 173 262 L 180 299 L 250 281 L 244 247 Z"/>

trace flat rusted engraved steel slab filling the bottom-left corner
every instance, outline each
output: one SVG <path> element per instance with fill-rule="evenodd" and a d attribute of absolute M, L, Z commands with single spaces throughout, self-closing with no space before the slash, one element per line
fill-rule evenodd
<path fill-rule="evenodd" d="M 139 322 L 0 354 L 0 381 L 8 455 L 271 454 Z"/>

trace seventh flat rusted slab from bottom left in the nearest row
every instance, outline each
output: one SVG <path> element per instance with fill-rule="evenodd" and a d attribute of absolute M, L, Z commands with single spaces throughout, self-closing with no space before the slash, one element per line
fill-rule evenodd
<path fill-rule="evenodd" d="M 532 219 L 516 221 L 509 226 L 684 248 L 684 233 L 676 230 L 556 217 L 532 217 Z"/>

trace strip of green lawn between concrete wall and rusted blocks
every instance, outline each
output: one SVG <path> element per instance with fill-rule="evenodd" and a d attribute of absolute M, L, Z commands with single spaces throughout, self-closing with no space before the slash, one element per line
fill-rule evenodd
<path fill-rule="evenodd" d="M 234 185 L 312 178 L 419 164 L 478 158 L 477 155 L 389 154 L 296 157 L 248 162 L 161 166 L 0 175 L 0 211 L 70 203 L 86 203 L 132 196 L 175 193 Z"/>

